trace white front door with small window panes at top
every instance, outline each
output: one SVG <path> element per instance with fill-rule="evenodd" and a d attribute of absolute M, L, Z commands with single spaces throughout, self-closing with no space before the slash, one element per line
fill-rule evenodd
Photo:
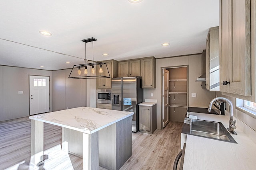
<path fill-rule="evenodd" d="M 29 76 L 30 115 L 50 111 L 50 77 Z"/>

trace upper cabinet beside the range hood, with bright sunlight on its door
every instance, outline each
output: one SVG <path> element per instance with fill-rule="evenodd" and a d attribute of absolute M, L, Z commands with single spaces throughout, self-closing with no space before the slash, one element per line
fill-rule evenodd
<path fill-rule="evenodd" d="M 206 89 L 220 90 L 219 27 L 210 28 L 206 38 Z"/>

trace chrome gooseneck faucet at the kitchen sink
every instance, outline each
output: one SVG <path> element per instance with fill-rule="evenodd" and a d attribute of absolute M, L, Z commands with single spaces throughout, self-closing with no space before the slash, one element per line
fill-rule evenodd
<path fill-rule="evenodd" d="M 234 129 L 236 129 L 236 121 L 233 121 L 233 104 L 232 104 L 232 102 L 230 100 L 226 99 L 226 98 L 223 98 L 223 97 L 214 98 L 214 99 L 212 99 L 212 101 L 209 104 L 209 108 L 208 108 L 209 112 L 212 109 L 213 102 L 215 102 L 216 100 L 224 100 L 225 102 L 227 102 L 229 104 L 230 120 L 229 120 L 229 127 L 227 127 L 227 129 L 232 135 L 237 135 L 237 133 L 234 131 Z"/>

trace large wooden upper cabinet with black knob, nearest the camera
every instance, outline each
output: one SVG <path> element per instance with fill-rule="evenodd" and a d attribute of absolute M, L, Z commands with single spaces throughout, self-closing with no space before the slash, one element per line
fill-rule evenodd
<path fill-rule="evenodd" d="M 250 14 L 250 0 L 220 0 L 220 91 L 226 94 L 251 95 Z"/>

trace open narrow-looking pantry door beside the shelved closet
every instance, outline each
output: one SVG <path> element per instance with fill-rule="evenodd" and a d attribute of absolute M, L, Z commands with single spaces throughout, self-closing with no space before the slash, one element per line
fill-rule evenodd
<path fill-rule="evenodd" d="M 163 118 L 163 128 L 169 122 L 169 71 L 166 69 L 162 69 L 162 118 Z"/>

